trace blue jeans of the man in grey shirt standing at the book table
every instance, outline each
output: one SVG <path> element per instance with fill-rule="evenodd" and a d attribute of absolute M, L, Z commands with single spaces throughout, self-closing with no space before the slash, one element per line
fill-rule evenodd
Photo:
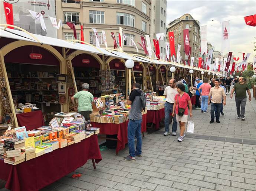
<path fill-rule="evenodd" d="M 131 120 L 129 119 L 128 123 L 128 146 L 129 146 L 129 154 L 131 157 L 135 157 L 135 154 L 141 154 L 142 147 L 142 137 L 141 137 L 141 122 L 140 120 Z M 137 138 L 136 144 L 136 153 L 135 153 L 135 137 Z"/>

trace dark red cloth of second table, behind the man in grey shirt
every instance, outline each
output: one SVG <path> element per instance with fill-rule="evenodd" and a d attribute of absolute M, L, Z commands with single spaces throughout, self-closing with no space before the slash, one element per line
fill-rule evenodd
<path fill-rule="evenodd" d="M 100 134 L 117 134 L 116 155 L 118 155 L 118 151 L 124 149 L 125 144 L 128 143 L 128 122 L 129 120 L 120 124 L 96 122 L 91 122 L 91 124 L 93 127 L 99 128 Z M 146 123 L 147 113 L 142 115 L 141 132 L 146 132 Z"/>

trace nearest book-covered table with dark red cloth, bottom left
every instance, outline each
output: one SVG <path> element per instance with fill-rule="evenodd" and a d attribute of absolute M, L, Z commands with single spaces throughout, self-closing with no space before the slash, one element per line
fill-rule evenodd
<path fill-rule="evenodd" d="M 33 130 L 9 128 L 0 136 L 0 179 L 9 190 L 40 190 L 89 159 L 96 168 L 102 159 L 98 133 L 75 112 L 57 113 L 49 126 Z"/>

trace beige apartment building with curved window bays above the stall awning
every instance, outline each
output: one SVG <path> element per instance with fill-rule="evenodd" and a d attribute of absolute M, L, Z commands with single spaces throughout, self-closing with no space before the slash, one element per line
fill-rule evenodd
<path fill-rule="evenodd" d="M 159 0 L 162 1 L 162 0 Z M 106 33 L 108 48 L 114 48 L 111 32 L 118 40 L 119 27 L 124 28 L 127 40 L 124 42 L 124 51 L 137 54 L 132 40 L 136 43 L 139 53 L 145 55 L 144 50 L 138 45 L 141 42 L 140 36 L 152 34 L 156 19 L 151 19 L 157 15 L 157 3 L 152 7 L 151 0 L 61 0 L 56 1 L 56 17 L 62 18 L 63 27 L 58 30 L 58 38 L 74 39 L 73 30 L 65 23 L 72 22 L 76 26 L 77 36 L 81 38 L 81 28 L 83 26 L 84 40 L 95 45 L 96 37 L 92 28 L 96 28 L 99 36 L 100 46 L 105 48 L 102 30 Z M 165 17 L 166 17 L 166 0 Z M 153 12 L 153 13 L 152 13 Z M 153 30 L 155 34 L 157 30 Z"/>

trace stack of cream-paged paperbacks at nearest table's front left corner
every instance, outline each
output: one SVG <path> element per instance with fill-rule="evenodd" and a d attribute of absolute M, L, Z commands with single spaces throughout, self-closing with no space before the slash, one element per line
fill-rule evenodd
<path fill-rule="evenodd" d="M 4 154 L 4 163 L 16 165 L 25 161 L 25 153 L 21 153 L 20 149 L 9 150 Z"/>

